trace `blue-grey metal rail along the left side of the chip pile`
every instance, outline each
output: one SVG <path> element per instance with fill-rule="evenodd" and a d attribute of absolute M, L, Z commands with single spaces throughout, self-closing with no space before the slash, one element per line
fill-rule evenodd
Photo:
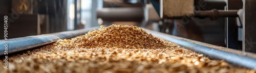
<path fill-rule="evenodd" d="M 0 56 L 5 55 L 5 51 L 8 51 L 8 54 L 28 50 L 30 48 L 46 45 L 52 42 L 55 42 L 59 39 L 68 39 L 72 37 L 76 37 L 79 35 L 86 34 L 87 32 L 98 29 L 100 27 L 93 27 L 88 29 L 81 29 L 75 31 L 66 31 L 66 32 L 59 32 L 59 33 L 52 33 L 52 34 L 45 34 L 45 35 L 37 35 L 37 36 L 27 36 L 27 37 L 20 37 L 20 38 L 13 38 L 8 40 L 0 40 Z M 8 44 L 7 50 L 5 44 Z"/>

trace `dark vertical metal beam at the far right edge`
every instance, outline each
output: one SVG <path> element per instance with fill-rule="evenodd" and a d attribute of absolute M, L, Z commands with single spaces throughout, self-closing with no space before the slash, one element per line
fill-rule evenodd
<path fill-rule="evenodd" d="M 243 51 L 256 53 L 256 1 L 244 0 Z"/>

